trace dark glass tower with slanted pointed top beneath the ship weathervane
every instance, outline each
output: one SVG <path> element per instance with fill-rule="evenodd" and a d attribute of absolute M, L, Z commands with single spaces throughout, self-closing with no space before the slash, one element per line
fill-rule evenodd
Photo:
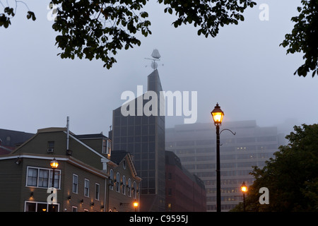
<path fill-rule="evenodd" d="M 148 76 L 148 89 L 157 94 L 158 103 L 149 107 L 151 98 L 147 93 L 131 100 L 135 115 L 124 116 L 121 107 L 113 110 L 112 150 L 126 150 L 134 155 L 134 165 L 141 181 L 141 211 L 165 210 L 165 116 L 160 116 L 160 91 L 162 91 L 158 70 Z M 148 100 L 148 99 L 150 100 Z M 142 106 L 139 106 L 141 105 Z M 155 110 L 158 114 L 147 116 L 141 107 Z M 128 107 L 128 108 L 129 108 Z"/>

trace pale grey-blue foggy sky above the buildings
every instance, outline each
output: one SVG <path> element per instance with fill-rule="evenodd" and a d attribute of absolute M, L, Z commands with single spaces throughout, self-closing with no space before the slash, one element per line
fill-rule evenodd
<path fill-rule="evenodd" d="M 279 47 L 293 29 L 300 0 L 257 1 L 245 11 L 245 21 L 220 28 L 217 37 L 198 36 L 198 28 L 174 28 L 174 16 L 151 1 L 152 35 L 140 37 L 141 46 L 120 50 L 117 64 L 107 70 L 102 61 L 60 59 L 57 32 L 47 20 L 49 1 L 25 1 L 37 20 L 27 20 L 28 9 L 18 5 L 12 25 L 0 28 L 0 128 L 36 133 L 37 129 L 66 126 L 73 133 L 107 135 L 112 110 L 121 106 L 125 90 L 137 91 L 153 70 L 158 49 L 158 71 L 163 90 L 197 91 L 197 122 L 211 121 L 219 103 L 226 121 L 257 120 L 259 126 L 293 119 L 317 123 L 317 76 L 293 76 L 303 64 L 302 54 Z M 269 5 L 269 20 L 259 20 L 259 4 Z M 2 6 L 0 6 L 2 7 Z M 0 8 L 1 11 L 3 10 Z M 161 65 L 164 64 L 164 65 Z M 184 117 L 166 117 L 166 128 L 183 124 Z M 290 127 L 292 129 L 292 127 Z"/>

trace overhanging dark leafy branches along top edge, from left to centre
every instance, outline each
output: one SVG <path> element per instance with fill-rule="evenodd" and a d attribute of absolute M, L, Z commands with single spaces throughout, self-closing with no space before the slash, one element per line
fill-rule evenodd
<path fill-rule="evenodd" d="M 1 0 L 0 0 L 1 2 Z M 16 1 L 17 2 L 17 1 Z M 136 38 L 151 34 L 148 13 L 142 11 L 148 0 L 52 0 L 58 6 L 53 29 L 59 32 L 56 44 L 63 58 L 101 59 L 107 69 L 116 62 L 119 49 L 129 49 L 141 42 Z M 175 28 L 193 23 L 198 35 L 218 34 L 219 26 L 237 24 L 244 20 L 242 13 L 256 3 L 252 0 L 158 0 L 166 6 L 165 13 L 175 13 Z M 29 11 L 30 12 L 30 11 Z M 28 13 L 29 13 L 28 12 Z M 31 12 L 32 13 L 32 12 Z M 29 14 L 28 14 L 29 15 Z M 35 19 L 34 14 L 30 14 Z M 13 8 L 0 14 L 0 26 L 8 28 Z M 29 16 L 28 16 L 29 18 Z"/>

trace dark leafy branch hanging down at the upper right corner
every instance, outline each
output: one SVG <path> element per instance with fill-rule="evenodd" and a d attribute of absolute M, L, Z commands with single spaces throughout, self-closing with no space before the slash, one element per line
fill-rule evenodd
<path fill-rule="evenodd" d="M 294 75 L 298 73 L 298 76 L 305 77 L 312 71 L 313 78 L 318 68 L 318 1 L 302 0 L 302 7 L 298 7 L 297 10 L 299 16 L 291 18 L 296 24 L 291 34 L 285 35 L 285 40 L 280 45 L 288 47 L 287 54 L 303 52 L 305 64 L 302 64 Z"/>

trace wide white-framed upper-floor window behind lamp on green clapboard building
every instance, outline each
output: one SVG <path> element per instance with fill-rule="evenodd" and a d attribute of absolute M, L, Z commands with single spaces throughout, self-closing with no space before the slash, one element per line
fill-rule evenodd
<path fill-rule="evenodd" d="M 39 188 L 49 188 L 52 186 L 52 169 L 44 169 L 37 167 L 27 168 L 26 186 L 35 186 Z M 60 189 L 59 182 L 61 178 L 61 170 L 55 169 L 54 172 L 54 188 Z"/>

